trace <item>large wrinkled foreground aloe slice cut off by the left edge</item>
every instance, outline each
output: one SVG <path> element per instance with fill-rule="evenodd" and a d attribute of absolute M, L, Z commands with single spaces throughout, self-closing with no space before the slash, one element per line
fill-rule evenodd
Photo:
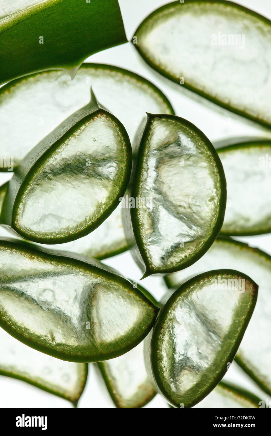
<path fill-rule="evenodd" d="M 97 260 L 2 239 L 0 265 L 0 327 L 38 351 L 108 360 L 139 344 L 154 323 L 154 304 Z"/>

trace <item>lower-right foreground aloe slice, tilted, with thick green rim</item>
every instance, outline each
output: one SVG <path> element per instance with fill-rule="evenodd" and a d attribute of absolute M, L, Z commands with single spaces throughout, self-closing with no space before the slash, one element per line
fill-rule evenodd
<path fill-rule="evenodd" d="M 257 292 L 248 276 L 220 269 L 189 280 L 167 300 L 147 338 L 146 364 L 168 402 L 193 407 L 217 385 L 238 350 Z"/>

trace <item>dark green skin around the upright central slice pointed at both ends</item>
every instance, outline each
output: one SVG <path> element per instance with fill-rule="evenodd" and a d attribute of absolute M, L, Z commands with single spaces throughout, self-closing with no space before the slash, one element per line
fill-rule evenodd
<path fill-rule="evenodd" d="M 220 199 L 219 199 L 219 205 L 220 205 L 219 212 L 216 217 L 215 225 L 213 225 L 212 227 L 213 228 L 212 235 L 209 238 L 207 238 L 207 240 L 204 242 L 204 244 L 202 245 L 201 249 L 198 252 L 194 252 L 194 255 L 192 257 L 190 257 L 189 259 L 187 259 L 182 263 L 180 262 L 179 264 L 171 268 L 157 269 L 151 265 L 150 260 L 148 259 L 147 254 L 145 252 L 143 241 L 141 239 L 139 226 L 137 222 L 137 209 L 136 208 L 123 209 L 122 218 L 123 218 L 123 225 L 124 225 L 125 236 L 127 239 L 127 244 L 134 257 L 135 262 L 141 268 L 141 270 L 144 271 L 144 275 L 142 279 L 154 273 L 168 273 L 168 272 L 180 271 L 181 269 L 187 268 L 187 266 L 192 265 L 194 262 L 200 259 L 201 256 L 204 255 L 204 253 L 210 248 L 210 246 L 214 242 L 215 238 L 217 237 L 221 229 L 224 220 L 226 197 L 227 197 L 226 179 L 225 179 L 221 161 L 213 145 L 208 140 L 208 138 L 204 135 L 204 133 L 202 133 L 201 130 L 197 129 L 197 127 L 194 126 L 194 124 L 190 123 L 186 119 L 174 115 L 153 115 L 153 114 L 147 114 L 147 115 L 148 115 L 147 123 L 145 126 L 143 126 L 142 124 L 139 127 L 137 136 L 133 144 L 133 150 L 134 150 L 133 166 L 132 166 L 129 186 L 127 189 L 127 193 L 129 197 L 132 198 L 140 197 L 140 195 L 138 194 L 139 184 L 140 184 L 140 172 L 142 170 L 143 163 L 144 163 L 144 151 L 146 148 L 146 143 L 151 128 L 151 123 L 153 122 L 154 119 L 167 119 L 167 120 L 173 120 L 174 122 L 176 121 L 182 123 L 183 126 L 187 127 L 188 129 L 191 129 L 191 131 L 193 131 L 197 136 L 199 136 L 199 138 L 207 146 L 207 149 L 214 160 L 214 164 L 217 167 L 217 171 L 219 173 L 219 178 L 220 178 L 221 192 L 220 192 Z"/>

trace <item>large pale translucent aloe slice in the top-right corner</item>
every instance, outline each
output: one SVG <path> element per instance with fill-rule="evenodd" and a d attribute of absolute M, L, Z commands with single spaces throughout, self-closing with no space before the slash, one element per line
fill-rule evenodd
<path fill-rule="evenodd" d="M 230 1 L 175 1 L 145 18 L 135 37 L 135 48 L 165 77 L 271 126 L 267 18 Z"/>

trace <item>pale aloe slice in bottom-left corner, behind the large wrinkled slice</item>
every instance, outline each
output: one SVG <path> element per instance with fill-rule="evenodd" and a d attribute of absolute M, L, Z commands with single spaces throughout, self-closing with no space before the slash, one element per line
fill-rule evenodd
<path fill-rule="evenodd" d="M 0 328 L 0 375 L 17 378 L 74 405 L 87 381 L 87 364 L 61 361 L 27 347 Z"/>

